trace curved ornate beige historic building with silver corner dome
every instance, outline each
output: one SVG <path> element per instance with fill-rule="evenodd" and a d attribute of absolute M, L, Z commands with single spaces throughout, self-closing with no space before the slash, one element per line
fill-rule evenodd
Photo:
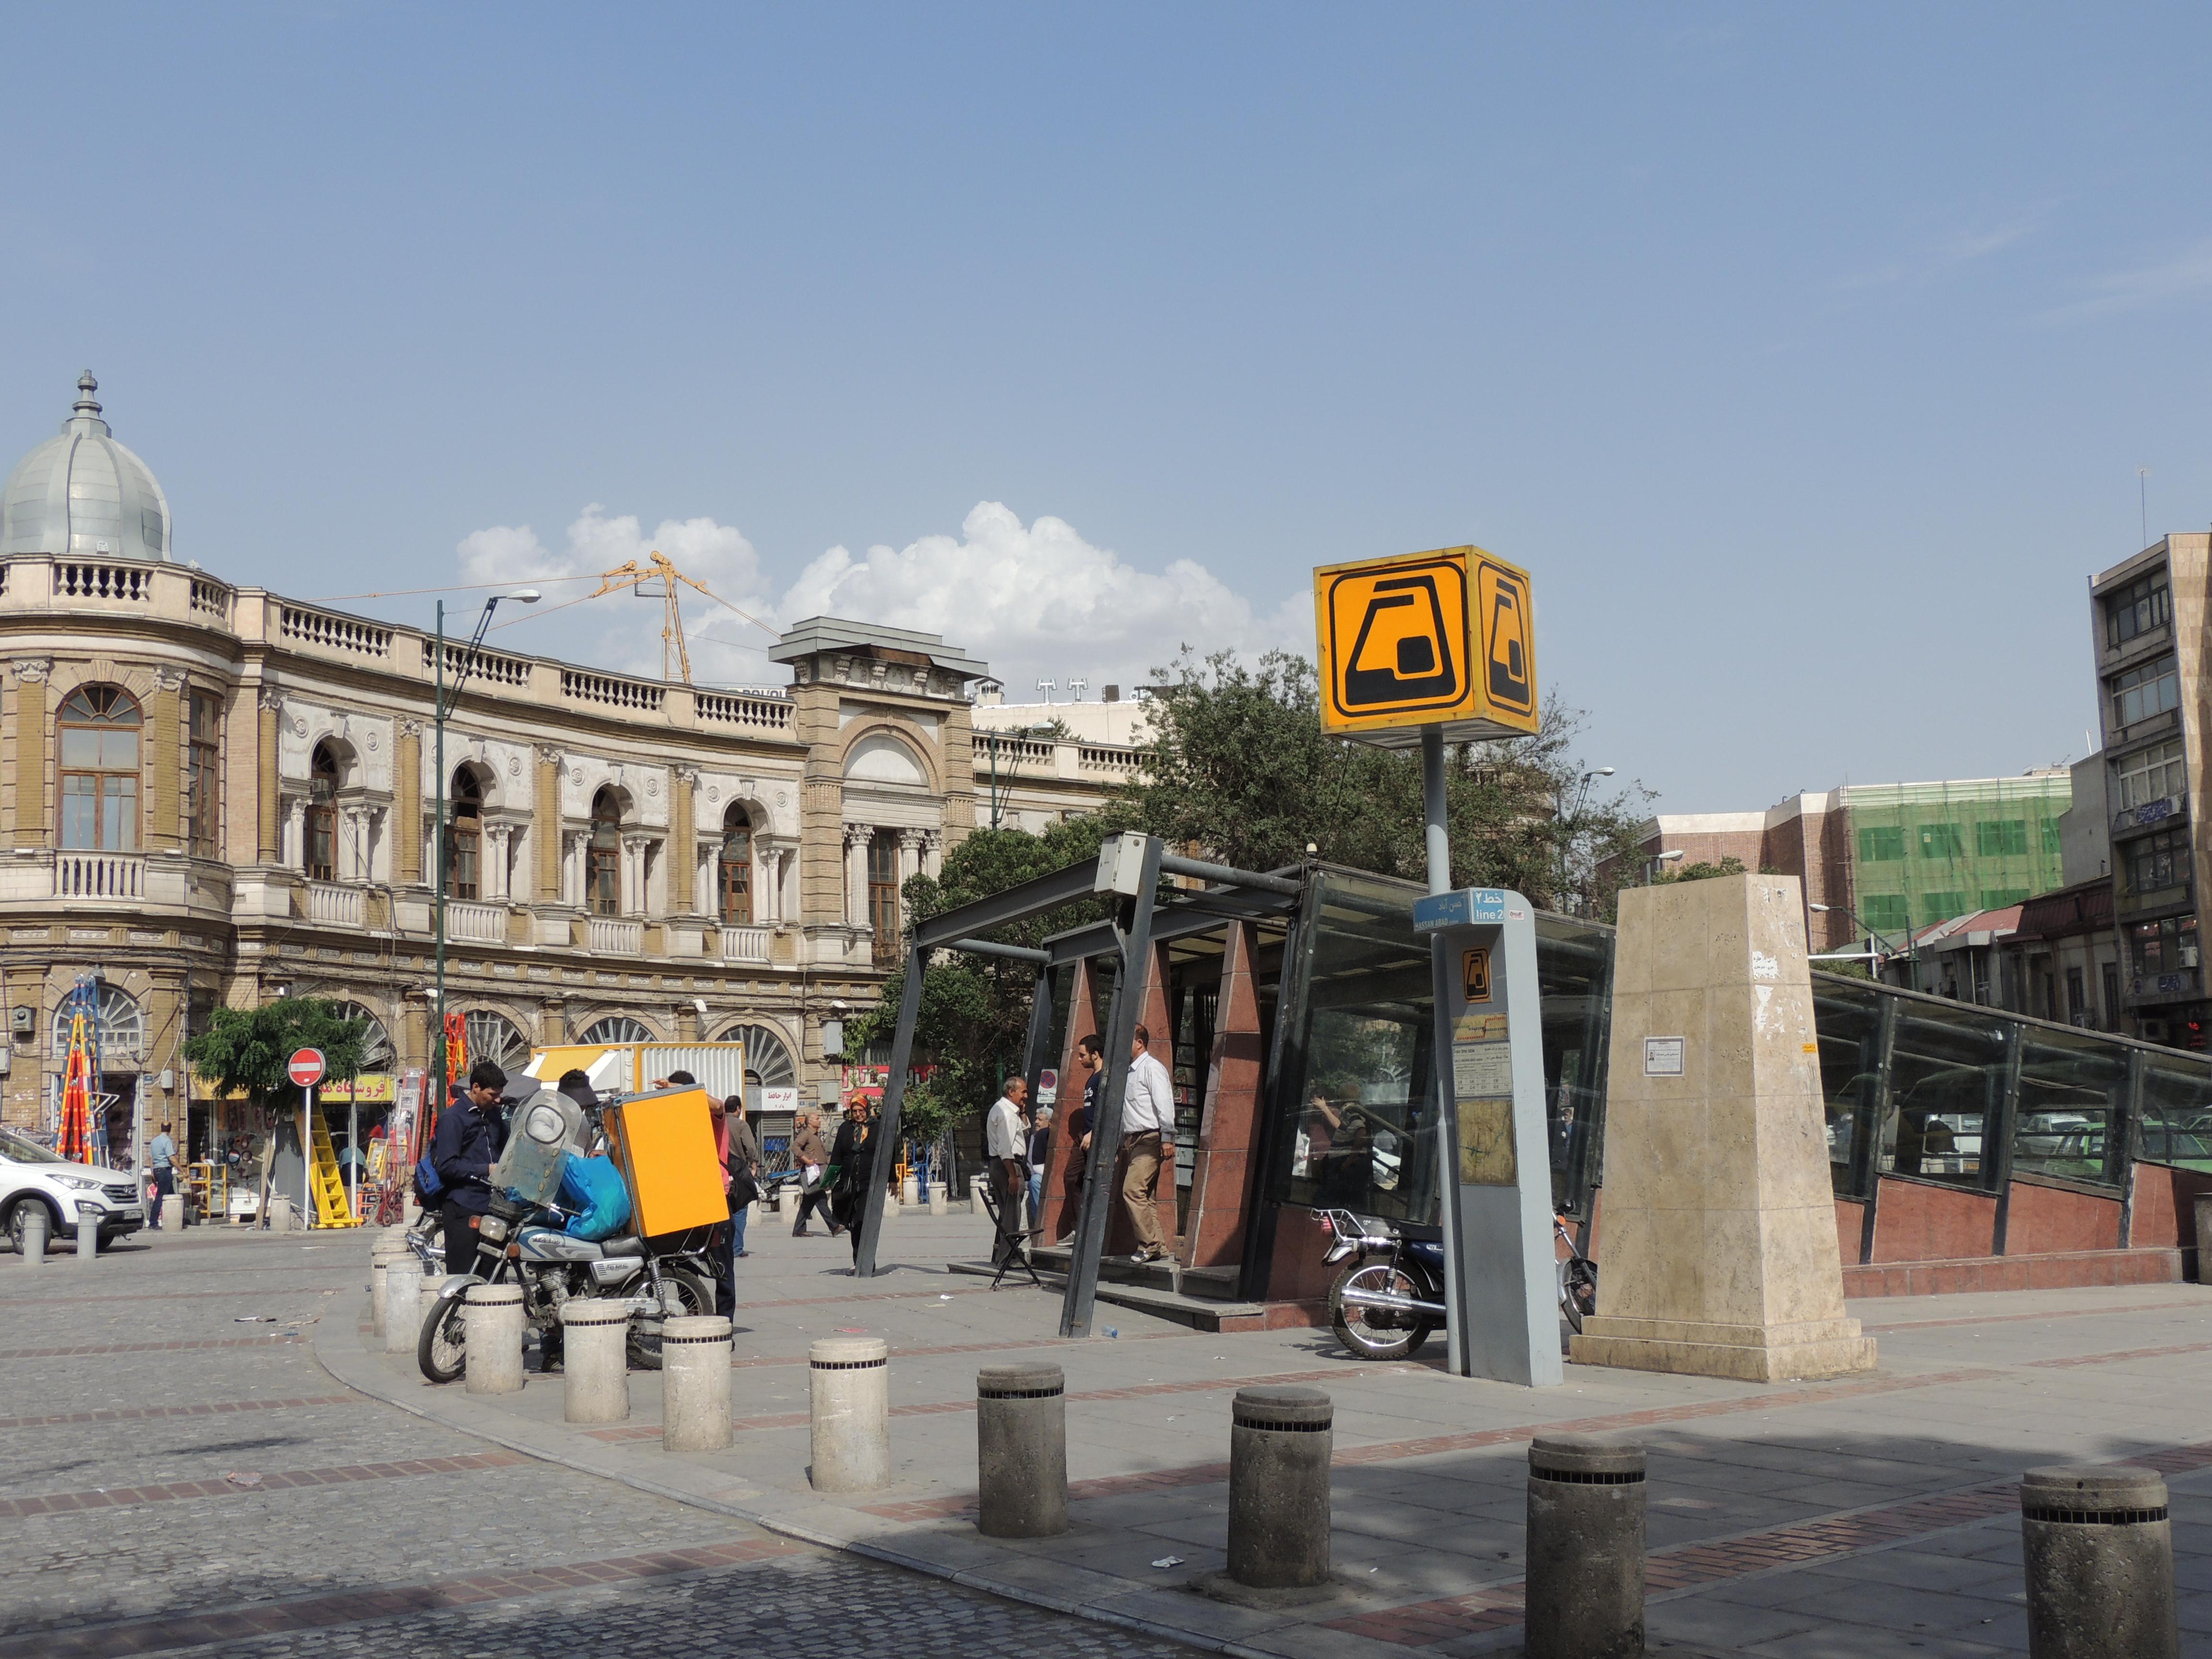
<path fill-rule="evenodd" d="M 874 1004 L 900 883 L 978 821 L 984 664 L 836 617 L 781 637 L 772 690 L 447 644 L 440 776 L 431 633 L 179 564 L 95 392 L 0 491 L 4 1121 L 51 1126 L 80 975 L 117 1150 L 226 1133 L 181 1060 L 217 1006 L 334 998 L 387 1086 L 427 1064 L 440 796 L 473 1053 L 741 1035 L 770 1110 L 834 1086 L 823 1026 Z M 1060 810 L 1024 770 L 1009 799 Z"/>

